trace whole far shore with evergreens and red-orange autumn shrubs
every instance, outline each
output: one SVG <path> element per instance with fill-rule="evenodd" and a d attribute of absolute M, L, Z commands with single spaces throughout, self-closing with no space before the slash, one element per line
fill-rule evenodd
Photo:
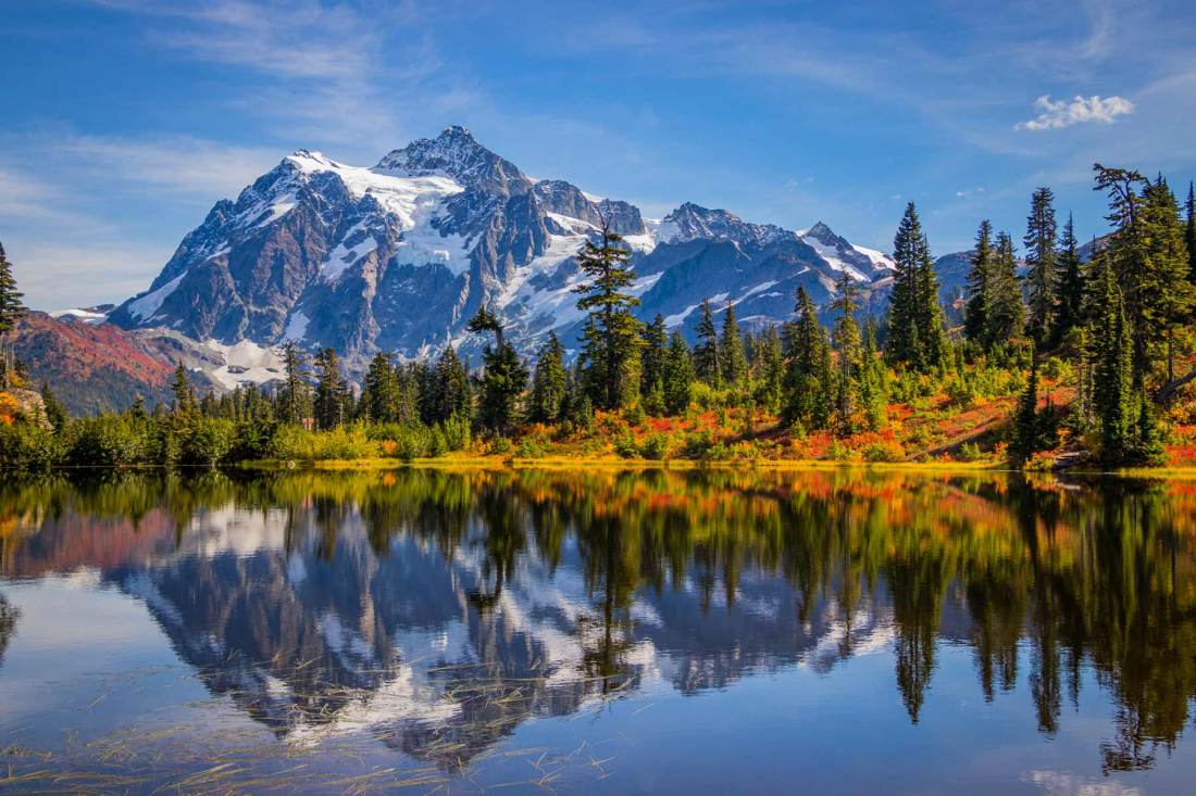
<path fill-rule="evenodd" d="M 502 458 L 953 460 L 1039 469 L 1196 463 L 1196 207 L 1160 176 L 1096 166 L 1113 232 L 1081 262 L 1070 219 L 1035 191 L 1024 238 L 983 221 L 968 295 L 948 327 L 929 244 L 913 203 L 895 241 L 887 313 L 861 318 L 844 273 L 828 331 L 798 290 L 780 329 L 740 329 L 733 304 L 703 301 L 690 345 L 665 319 L 645 324 L 620 235 L 578 255 L 587 277 L 580 355 L 555 335 L 535 362 L 482 308 L 493 335 L 470 374 L 448 345 L 435 361 L 370 362 L 360 391 L 336 351 L 281 349 L 285 378 L 199 398 L 179 366 L 170 406 L 72 420 L 48 388 L 0 393 L 0 466 L 214 465 L 248 460 L 404 461 Z M 995 237 L 994 237 L 995 235 Z M 2 259 L 2 250 L 0 250 Z M 20 294 L 0 271 L 0 333 Z M 715 316 L 721 312 L 721 325 Z M 862 320 L 862 324 L 861 324 Z M 7 324 L 7 325 L 5 325 Z M 315 372 L 312 372 L 312 365 Z M 5 360 L 5 384 L 20 387 Z M 24 391 L 29 393 L 28 390 Z M 35 396 L 36 398 L 36 396 Z"/>

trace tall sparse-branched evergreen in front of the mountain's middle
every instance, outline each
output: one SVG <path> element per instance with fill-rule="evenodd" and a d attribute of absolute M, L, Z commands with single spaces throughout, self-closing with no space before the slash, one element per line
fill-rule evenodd
<path fill-rule="evenodd" d="M 640 300 L 623 290 L 635 281 L 627 267 L 631 252 L 623 238 L 603 224 L 596 244 L 587 239 L 578 253 L 578 268 L 590 281 L 574 288 L 581 294 L 578 308 L 590 313 L 585 361 L 592 369 L 590 384 L 594 403 L 618 409 L 640 391 L 640 322 L 631 310 Z"/>

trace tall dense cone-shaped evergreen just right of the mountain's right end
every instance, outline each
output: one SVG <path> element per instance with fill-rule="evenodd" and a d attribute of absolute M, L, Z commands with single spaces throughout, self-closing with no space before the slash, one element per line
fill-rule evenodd
<path fill-rule="evenodd" d="M 893 238 L 892 295 L 889 300 L 890 361 L 916 371 L 941 367 L 947 339 L 939 307 L 938 276 L 917 209 L 910 202 Z"/>

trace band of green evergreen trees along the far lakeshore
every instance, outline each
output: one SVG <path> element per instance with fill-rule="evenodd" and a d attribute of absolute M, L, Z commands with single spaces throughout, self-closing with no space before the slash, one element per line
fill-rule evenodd
<path fill-rule="evenodd" d="M 940 304 L 934 258 L 914 203 L 893 239 L 885 316 L 869 316 L 861 326 L 861 288 L 867 286 L 844 271 L 825 311 L 829 329 L 798 288 L 792 319 L 755 331 L 740 327 L 734 301 L 715 307 L 703 300 L 695 308 L 692 344 L 660 316 L 647 323 L 636 317 L 630 251 L 603 227 L 576 256 L 584 278 L 574 290 L 585 322 L 575 356 L 549 332 L 525 361 L 501 318 L 482 307 L 468 324 L 487 337 L 472 374 L 452 344 L 433 360 L 401 361 L 379 351 L 354 390 L 335 350 L 312 355 L 288 342 L 279 350 L 283 378 L 264 388 L 199 398 L 179 363 L 171 405 L 152 414 L 139 402 L 106 421 L 71 421 L 43 388 L 50 427 L 43 435 L 60 435 L 73 423 L 150 429 L 152 421 L 142 441 L 130 443 L 141 453 L 115 458 L 161 463 L 285 457 L 303 440 L 300 430 L 341 431 L 350 448 L 355 439 L 434 455 L 465 447 L 476 435 L 505 439 L 533 425 L 567 435 L 588 430 L 596 412 L 642 421 L 682 415 L 698 402 L 737 406 L 749 417 L 763 414 L 792 436 L 829 431 L 847 437 L 885 428 L 892 402 L 939 390 L 981 390 L 986 374 L 996 372 L 1025 374 L 1009 424 L 1013 463 L 1052 448 L 1066 425 L 1105 466 L 1149 464 L 1163 452 L 1160 410 L 1196 379 L 1190 365 L 1196 197 L 1189 185 L 1182 206 L 1163 176 L 1148 179 L 1099 164 L 1094 176 L 1094 189 L 1109 197 L 1112 232 L 1092 241 L 1086 262 L 1070 215 L 1060 229 L 1049 188 L 1031 197 L 1020 261 L 1009 233 L 980 222 L 958 327 L 950 327 Z M 17 307 L 0 317 L 10 318 L 7 327 L 0 324 L 4 333 L 20 307 L 7 264 L 0 271 L 0 306 Z M 1066 410 L 1039 405 L 1039 368 L 1048 357 L 1074 371 L 1075 399 Z M 222 435 L 227 440 L 216 441 Z M 96 451 L 72 453 L 73 442 L 55 448 L 45 440 L 14 442 L 14 436 L 7 433 L 4 461 L 44 460 L 54 458 L 53 451 L 61 461 L 114 459 Z M 50 453 L 38 453 L 39 446 Z"/>

